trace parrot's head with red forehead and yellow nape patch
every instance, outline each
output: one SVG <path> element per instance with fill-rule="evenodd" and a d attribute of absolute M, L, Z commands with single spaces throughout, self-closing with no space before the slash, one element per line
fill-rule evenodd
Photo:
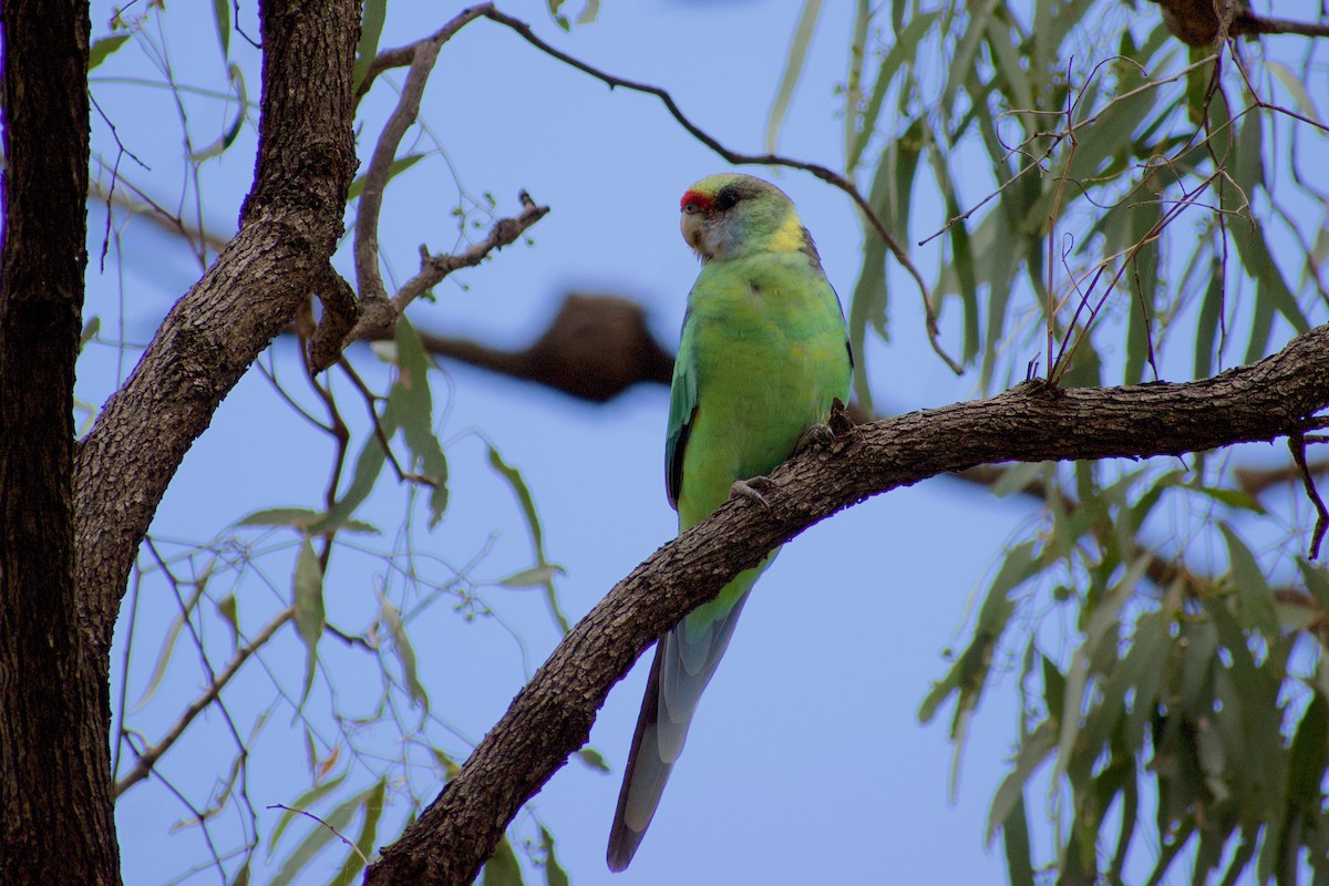
<path fill-rule="evenodd" d="M 817 262 L 812 238 L 793 203 L 775 185 L 727 173 L 703 178 L 679 201 L 683 239 L 702 263 L 726 262 L 752 252 L 803 250 Z"/>

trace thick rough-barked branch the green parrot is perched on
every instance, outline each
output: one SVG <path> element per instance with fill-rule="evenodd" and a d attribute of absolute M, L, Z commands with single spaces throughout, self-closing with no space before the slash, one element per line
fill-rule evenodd
<path fill-rule="evenodd" d="M 456 778 L 365 882 L 468 883 L 504 829 L 590 735 L 610 687 L 679 614 L 768 550 L 900 486 L 994 461 L 1176 456 L 1273 440 L 1329 406 L 1329 325 L 1213 379 L 1128 388 L 1023 384 L 990 400 L 837 429 L 744 498 L 659 549 L 563 639 Z"/>

